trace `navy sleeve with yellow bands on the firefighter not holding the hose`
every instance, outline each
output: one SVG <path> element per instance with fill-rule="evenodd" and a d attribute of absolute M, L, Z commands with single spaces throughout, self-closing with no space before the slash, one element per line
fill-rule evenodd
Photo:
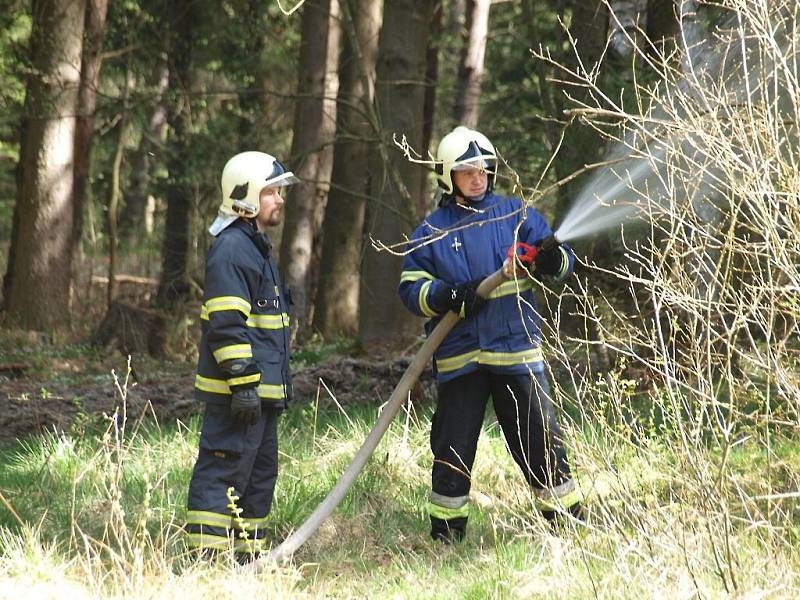
<path fill-rule="evenodd" d="M 230 252 L 215 253 L 206 263 L 205 301 L 201 318 L 207 320 L 206 340 L 217 364 L 240 359 L 252 368 L 231 375 L 232 387 L 258 385 L 261 375 L 253 362 L 247 320 L 253 298 L 253 274 Z"/>

